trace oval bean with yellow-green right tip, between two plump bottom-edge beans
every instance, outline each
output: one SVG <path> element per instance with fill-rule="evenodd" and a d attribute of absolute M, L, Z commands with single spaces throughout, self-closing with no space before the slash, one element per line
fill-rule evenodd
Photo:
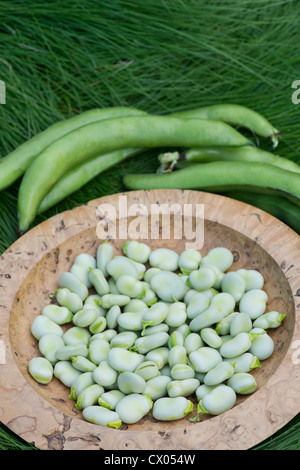
<path fill-rule="evenodd" d="M 186 397 L 163 397 L 155 401 L 152 414 L 158 421 L 175 421 L 191 413 L 193 407 Z"/>

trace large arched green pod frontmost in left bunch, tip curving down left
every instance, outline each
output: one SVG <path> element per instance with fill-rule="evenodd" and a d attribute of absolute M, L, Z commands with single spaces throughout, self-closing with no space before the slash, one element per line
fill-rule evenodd
<path fill-rule="evenodd" d="M 24 174 L 19 189 L 19 230 L 26 231 L 40 203 L 72 167 L 93 157 L 129 147 L 247 145 L 232 127 L 205 119 L 130 116 L 82 126 L 49 145 Z"/>

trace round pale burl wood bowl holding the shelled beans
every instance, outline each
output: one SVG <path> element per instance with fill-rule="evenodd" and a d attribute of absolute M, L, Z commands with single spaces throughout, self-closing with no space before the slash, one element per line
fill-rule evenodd
<path fill-rule="evenodd" d="M 146 208 L 148 214 L 151 204 L 177 204 L 174 217 L 179 218 L 185 204 L 193 208 L 203 204 L 202 255 L 215 246 L 229 248 L 234 253 L 231 269 L 260 271 L 269 296 L 267 309 L 286 314 L 279 328 L 269 330 L 274 353 L 252 372 L 257 391 L 239 396 L 237 404 L 222 415 L 201 415 L 200 422 L 191 423 L 188 418 L 195 415 L 195 406 L 192 415 L 178 421 L 157 422 L 150 412 L 134 425 L 105 428 L 83 420 L 74 401 L 68 399 L 69 389 L 56 378 L 40 385 L 28 374 L 29 360 L 40 355 L 30 333 L 33 319 L 51 302 L 49 295 L 58 287 L 59 274 L 69 270 L 79 253 L 95 255 L 101 243 L 97 236 L 98 206 L 115 207 L 116 228 L 120 221 L 137 220 L 134 216 L 127 218 L 127 211 L 119 207 L 120 196 L 125 195 L 128 207 L 137 204 L 136 208 Z M 171 230 L 170 240 L 144 241 L 151 248 L 168 246 L 180 252 L 187 238 L 184 233 L 178 239 L 174 236 Z M 123 242 L 111 241 L 115 254 L 121 253 Z M 58 214 L 22 236 L 0 257 L 0 273 L 0 419 L 39 449 L 249 449 L 299 412 L 300 238 L 253 206 L 188 190 L 132 191 L 103 197 Z"/>

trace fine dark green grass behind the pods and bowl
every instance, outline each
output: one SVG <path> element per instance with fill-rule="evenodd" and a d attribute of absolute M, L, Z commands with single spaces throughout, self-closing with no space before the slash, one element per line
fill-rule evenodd
<path fill-rule="evenodd" d="M 249 106 L 282 132 L 300 162 L 300 3 L 296 0 L 0 0 L 0 156 L 60 119 L 94 107 L 168 113 L 219 102 Z M 267 150 L 271 144 L 260 139 Z M 155 171 L 156 152 L 110 169 L 35 220 L 124 191 L 122 176 Z M 0 193 L 0 253 L 17 238 L 19 181 Z M 262 449 L 300 448 L 299 418 Z M 0 430 L 0 449 L 26 443 Z"/>

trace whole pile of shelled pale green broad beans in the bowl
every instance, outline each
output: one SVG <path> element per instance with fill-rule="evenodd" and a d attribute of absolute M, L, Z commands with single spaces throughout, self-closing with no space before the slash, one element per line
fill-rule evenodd
<path fill-rule="evenodd" d="M 262 275 L 232 270 L 221 246 L 202 256 L 130 240 L 122 252 L 103 242 L 59 276 L 31 324 L 30 375 L 61 381 L 84 419 L 113 428 L 149 412 L 198 421 L 255 392 L 251 371 L 274 351 L 267 330 L 285 318 L 267 311 Z"/>

